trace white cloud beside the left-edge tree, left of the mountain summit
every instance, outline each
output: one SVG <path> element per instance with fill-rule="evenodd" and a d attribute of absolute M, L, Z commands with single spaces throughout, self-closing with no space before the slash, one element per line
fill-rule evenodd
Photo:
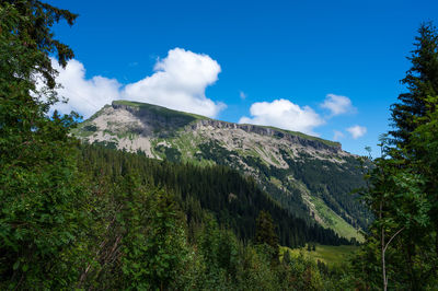
<path fill-rule="evenodd" d="M 122 84 L 117 80 L 101 75 L 87 80 L 85 68 L 74 59 L 69 60 L 65 69 L 55 59 L 51 60 L 51 63 L 59 72 L 57 81 L 62 85 L 61 89 L 58 89 L 58 94 L 68 98 L 67 104 L 58 103 L 53 109 L 66 114 L 74 110 L 88 118 L 105 104 L 111 104 L 113 100 L 119 97 Z"/>

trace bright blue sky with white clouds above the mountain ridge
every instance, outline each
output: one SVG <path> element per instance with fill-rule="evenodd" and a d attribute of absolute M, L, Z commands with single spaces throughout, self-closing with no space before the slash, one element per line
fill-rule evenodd
<path fill-rule="evenodd" d="M 389 129 L 419 24 L 438 24 L 433 0 L 49 3 L 80 14 L 55 27 L 76 53 L 65 110 L 136 98 L 336 136 L 358 154 Z"/>

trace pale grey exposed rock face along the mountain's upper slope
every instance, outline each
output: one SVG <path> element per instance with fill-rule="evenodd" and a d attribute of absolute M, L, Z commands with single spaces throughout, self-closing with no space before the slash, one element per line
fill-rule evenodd
<path fill-rule="evenodd" d="M 164 159 L 166 149 L 175 149 L 184 162 L 230 165 L 253 176 L 264 189 L 274 185 L 285 197 L 291 196 L 292 189 L 299 191 L 308 216 L 324 226 L 331 225 L 314 205 L 321 198 L 315 200 L 307 186 L 292 175 L 286 181 L 266 177 L 263 167 L 291 171 L 291 164 L 297 166 L 300 162 L 318 160 L 337 165 L 343 171 L 346 161 L 354 158 L 343 151 L 339 143 L 300 132 L 214 120 L 132 102 L 106 105 L 73 133 L 89 143 L 112 144 L 130 152 L 142 151 L 154 159 Z M 321 171 L 328 171 L 324 166 Z M 232 194 L 230 197 L 232 199 Z M 346 212 L 344 214 L 349 217 Z M 339 216 L 336 219 L 343 220 Z"/>

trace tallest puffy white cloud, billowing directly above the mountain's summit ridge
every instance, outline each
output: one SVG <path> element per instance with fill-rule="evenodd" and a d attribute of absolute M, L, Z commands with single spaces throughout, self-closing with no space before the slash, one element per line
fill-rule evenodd
<path fill-rule="evenodd" d="M 219 63 L 207 55 L 182 48 L 169 50 L 168 57 L 158 60 L 154 73 L 122 92 L 122 98 L 165 106 L 215 117 L 226 107 L 205 95 L 208 85 L 218 80 Z"/>

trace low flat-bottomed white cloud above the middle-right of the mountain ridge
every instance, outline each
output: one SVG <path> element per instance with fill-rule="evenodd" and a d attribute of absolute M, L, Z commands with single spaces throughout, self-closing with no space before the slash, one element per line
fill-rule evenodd
<path fill-rule="evenodd" d="M 325 121 L 309 106 L 300 107 L 288 100 L 257 102 L 251 105 L 252 118 L 242 117 L 240 124 L 269 125 L 318 136 L 313 128 Z"/>

